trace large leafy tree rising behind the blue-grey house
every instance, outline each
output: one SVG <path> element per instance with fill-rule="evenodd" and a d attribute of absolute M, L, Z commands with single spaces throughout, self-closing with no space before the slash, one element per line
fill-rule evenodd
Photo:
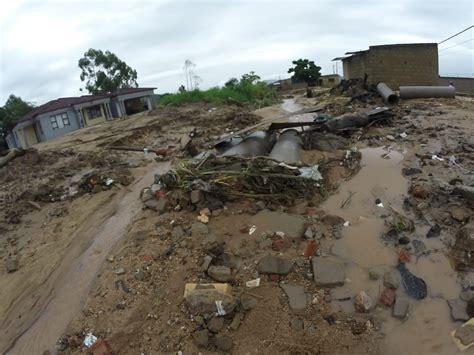
<path fill-rule="evenodd" d="M 79 68 L 81 81 L 86 82 L 86 90 L 91 94 L 138 87 L 137 71 L 109 51 L 90 48 L 79 59 Z"/>

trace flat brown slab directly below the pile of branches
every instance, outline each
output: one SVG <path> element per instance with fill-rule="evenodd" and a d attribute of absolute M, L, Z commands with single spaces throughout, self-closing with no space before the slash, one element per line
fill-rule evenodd
<path fill-rule="evenodd" d="M 260 211 L 252 216 L 250 224 L 255 225 L 261 231 L 283 232 L 285 238 L 292 240 L 301 239 L 306 230 L 306 220 L 301 216 L 268 210 Z"/>

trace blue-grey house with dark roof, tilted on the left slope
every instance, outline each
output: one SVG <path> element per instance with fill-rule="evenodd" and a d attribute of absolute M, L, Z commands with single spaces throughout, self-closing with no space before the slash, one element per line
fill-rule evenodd
<path fill-rule="evenodd" d="M 106 95 L 61 97 L 49 101 L 18 120 L 6 136 L 8 147 L 31 147 L 83 127 L 151 110 L 154 89 L 118 89 Z"/>

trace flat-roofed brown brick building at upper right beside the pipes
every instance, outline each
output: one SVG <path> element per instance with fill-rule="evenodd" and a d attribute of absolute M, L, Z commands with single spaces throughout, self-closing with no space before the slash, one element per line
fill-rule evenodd
<path fill-rule="evenodd" d="M 384 82 L 393 90 L 439 82 L 437 43 L 370 46 L 333 60 L 342 60 L 344 79 L 367 77 L 369 83 Z"/>

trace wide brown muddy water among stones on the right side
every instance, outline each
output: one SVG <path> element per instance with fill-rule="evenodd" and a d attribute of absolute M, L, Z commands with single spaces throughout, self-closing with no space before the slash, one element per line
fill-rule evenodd
<path fill-rule="evenodd" d="M 384 159 L 381 156 L 387 151 L 383 148 L 367 148 L 361 152 L 360 172 L 343 182 L 338 193 L 322 208 L 350 223 L 344 227 L 342 238 L 332 245 L 331 252 L 348 261 L 347 281 L 351 293 L 355 295 L 365 290 L 377 298 L 383 289 L 382 281 L 370 280 L 367 270 L 375 265 L 395 266 L 397 263 L 396 248 L 385 245 L 380 236 L 385 230 L 383 216 L 390 212 L 387 207 L 391 205 L 403 211 L 402 195 L 407 192 L 408 181 L 401 175 L 401 153 L 392 150 L 389 159 Z M 353 193 L 350 202 L 341 208 L 350 193 Z M 377 198 L 382 200 L 384 208 L 375 204 Z M 419 237 L 428 249 L 442 247 L 439 240 L 424 238 L 427 228 L 416 224 L 416 232 L 410 238 Z M 457 354 L 449 334 L 459 324 L 451 321 L 446 299 L 457 298 L 460 290 L 448 259 L 442 253 L 422 256 L 418 260 L 413 257 L 408 268 L 426 281 L 428 297 L 422 301 L 409 299 L 408 317 L 403 321 L 392 317 L 391 310 L 378 307 L 373 311 L 385 334 L 383 354 Z M 397 295 L 404 292 L 400 287 Z M 354 311 L 351 301 L 337 304 L 339 310 Z"/>

